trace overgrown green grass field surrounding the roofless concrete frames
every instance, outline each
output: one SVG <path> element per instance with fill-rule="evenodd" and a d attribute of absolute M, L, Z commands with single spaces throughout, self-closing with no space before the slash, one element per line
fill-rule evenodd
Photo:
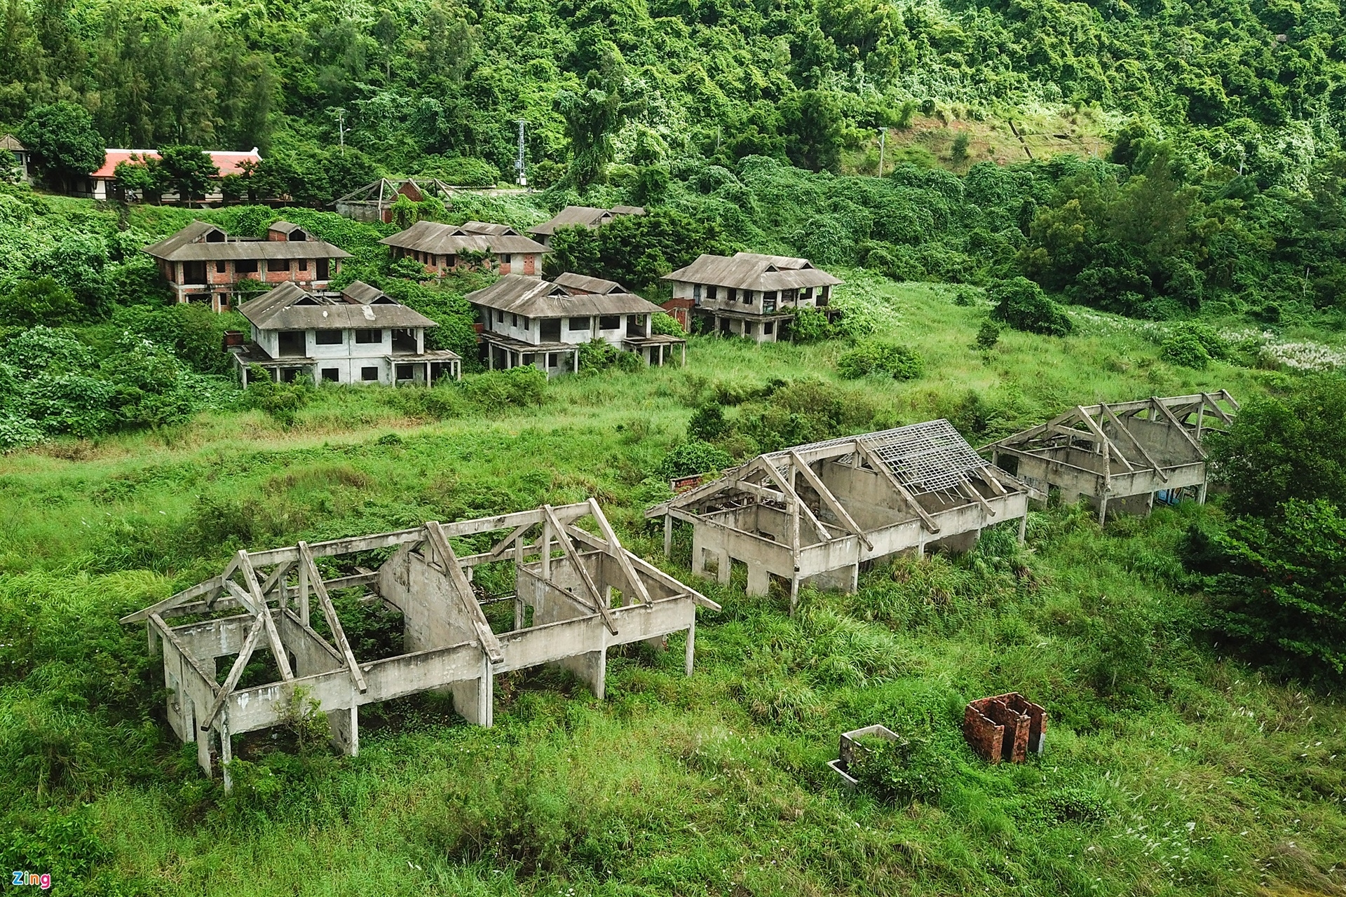
<path fill-rule="evenodd" d="M 847 432 L 949 417 L 980 444 L 1075 403 L 1284 377 L 1170 364 L 1106 316 L 981 350 L 966 290 L 848 280 L 921 378 L 840 379 L 840 342 L 693 339 L 685 368 L 563 378 L 526 406 L 330 387 L 288 428 L 210 413 L 0 459 L 4 861 L 66 894 L 1346 893 L 1346 711 L 1226 658 L 1184 589 L 1175 546 L 1218 502 L 1105 529 L 1034 512 L 1027 546 L 991 530 L 855 596 L 805 592 L 793 619 L 778 594 L 699 581 L 724 609 L 700 612 L 690 678 L 673 639 L 612 652 L 603 702 L 553 671 L 502 676 L 490 730 L 435 697 L 369 707 L 359 757 L 250 740 L 232 795 L 176 745 L 144 633 L 116 619 L 238 546 L 595 495 L 629 547 L 688 577 L 685 534 L 665 562 L 642 511 L 711 398 L 731 420 L 832 402 Z M 1047 707 L 1047 749 L 988 767 L 962 705 L 1010 690 Z M 944 758 L 910 806 L 825 767 L 871 722 Z"/>

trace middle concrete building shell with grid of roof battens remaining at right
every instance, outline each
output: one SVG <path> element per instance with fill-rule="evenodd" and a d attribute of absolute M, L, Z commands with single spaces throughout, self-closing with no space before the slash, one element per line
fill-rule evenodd
<path fill-rule="evenodd" d="M 949 421 L 795 445 L 759 455 L 723 477 L 645 512 L 692 526 L 692 572 L 730 581 L 747 566 L 748 594 L 770 578 L 855 592 L 860 566 L 927 549 L 966 551 L 981 530 L 1019 520 L 1028 490 L 979 456 Z"/>

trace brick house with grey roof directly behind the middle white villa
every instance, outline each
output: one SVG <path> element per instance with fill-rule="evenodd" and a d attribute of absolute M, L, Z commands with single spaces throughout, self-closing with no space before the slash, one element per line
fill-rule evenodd
<path fill-rule="evenodd" d="M 427 274 L 474 268 L 499 274 L 541 277 L 542 254 L 551 251 L 509 225 L 481 221 L 466 225 L 419 221 L 378 242 L 390 247 L 393 258 L 415 258 L 425 266 Z"/>

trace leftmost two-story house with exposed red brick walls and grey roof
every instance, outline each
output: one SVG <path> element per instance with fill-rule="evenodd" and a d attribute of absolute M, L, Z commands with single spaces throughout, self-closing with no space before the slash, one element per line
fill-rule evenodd
<path fill-rule="evenodd" d="M 350 257 L 287 221 L 268 227 L 265 239 L 230 237 L 218 225 L 194 221 L 141 251 L 159 262 L 179 303 L 203 303 L 217 312 L 237 305 L 236 292 L 254 293 L 260 284 L 327 289 Z"/>

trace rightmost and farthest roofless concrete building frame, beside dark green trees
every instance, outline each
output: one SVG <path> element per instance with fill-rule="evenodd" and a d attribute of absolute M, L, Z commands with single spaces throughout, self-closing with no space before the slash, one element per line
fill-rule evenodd
<path fill-rule="evenodd" d="M 1101 523 L 1109 508 L 1149 514 L 1156 495 L 1175 502 L 1195 490 L 1205 502 L 1209 471 L 1201 438 L 1237 413 L 1228 390 L 1077 405 L 981 451 L 1014 471 L 1036 500 L 1046 500 L 1049 490 L 1059 490 L 1067 504 L 1089 499 Z"/>

